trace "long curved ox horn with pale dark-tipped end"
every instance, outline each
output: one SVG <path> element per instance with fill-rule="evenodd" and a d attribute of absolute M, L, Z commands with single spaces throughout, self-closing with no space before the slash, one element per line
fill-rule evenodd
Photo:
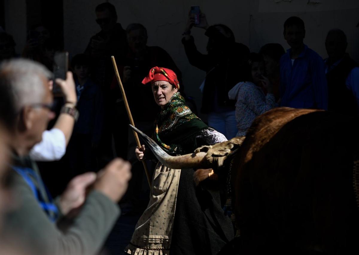
<path fill-rule="evenodd" d="M 193 154 L 186 154 L 181 156 L 168 155 L 161 149 L 150 137 L 145 133 L 135 128 L 130 124 L 130 127 L 141 135 L 146 145 L 149 146 L 156 158 L 166 167 L 172 169 L 184 169 L 184 168 L 210 168 L 209 162 L 206 162 L 206 152 L 197 152 Z"/>

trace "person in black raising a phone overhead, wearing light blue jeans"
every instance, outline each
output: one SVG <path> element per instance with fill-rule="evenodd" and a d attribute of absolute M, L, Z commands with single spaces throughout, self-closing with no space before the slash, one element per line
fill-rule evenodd
<path fill-rule="evenodd" d="M 198 21 L 196 12 L 199 12 Z M 205 35 L 209 37 L 208 54 L 202 54 L 197 50 L 191 36 L 192 27 L 205 29 Z M 206 15 L 200 12 L 199 7 L 191 9 L 183 35 L 182 43 L 189 62 L 206 72 L 201 113 L 208 114 L 210 127 L 223 133 L 227 139 L 233 138 L 238 132 L 235 101 L 228 98 L 228 92 L 245 79 L 244 66 L 248 60 L 249 49 L 235 42 L 234 34 L 229 27 L 223 24 L 209 26 Z"/>

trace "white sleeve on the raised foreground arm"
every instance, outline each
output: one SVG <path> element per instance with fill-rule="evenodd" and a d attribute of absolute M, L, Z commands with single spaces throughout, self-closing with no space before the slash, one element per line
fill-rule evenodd
<path fill-rule="evenodd" d="M 60 160 L 65 152 L 64 133 L 58 128 L 52 128 L 42 133 L 42 141 L 32 148 L 29 155 L 35 161 L 55 161 Z"/>

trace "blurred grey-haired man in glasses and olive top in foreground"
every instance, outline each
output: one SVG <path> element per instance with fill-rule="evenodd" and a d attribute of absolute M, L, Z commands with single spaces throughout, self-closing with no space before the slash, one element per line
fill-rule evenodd
<path fill-rule="evenodd" d="M 27 254 L 97 254 L 120 213 L 117 202 L 131 178 L 130 164 L 114 159 L 98 174 L 76 176 L 60 197 L 51 198 L 28 156 L 55 117 L 51 76 L 45 66 L 31 60 L 13 59 L 0 65 L 0 86 L 10 90 L 17 112 L 9 142 L 17 206 L 5 218 L 5 230 L 18 238 L 19 246 L 27 247 Z M 67 77 L 72 79 L 69 73 Z"/>

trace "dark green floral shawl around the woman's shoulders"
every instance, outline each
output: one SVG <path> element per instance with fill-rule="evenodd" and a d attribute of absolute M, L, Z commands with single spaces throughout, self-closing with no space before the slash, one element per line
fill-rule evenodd
<path fill-rule="evenodd" d="M 208 126 L 185 104 L 180 92 L 175 93 L 157 115 L 154 140 L 170 155 L 193 152 L 196 134 Z"/>

